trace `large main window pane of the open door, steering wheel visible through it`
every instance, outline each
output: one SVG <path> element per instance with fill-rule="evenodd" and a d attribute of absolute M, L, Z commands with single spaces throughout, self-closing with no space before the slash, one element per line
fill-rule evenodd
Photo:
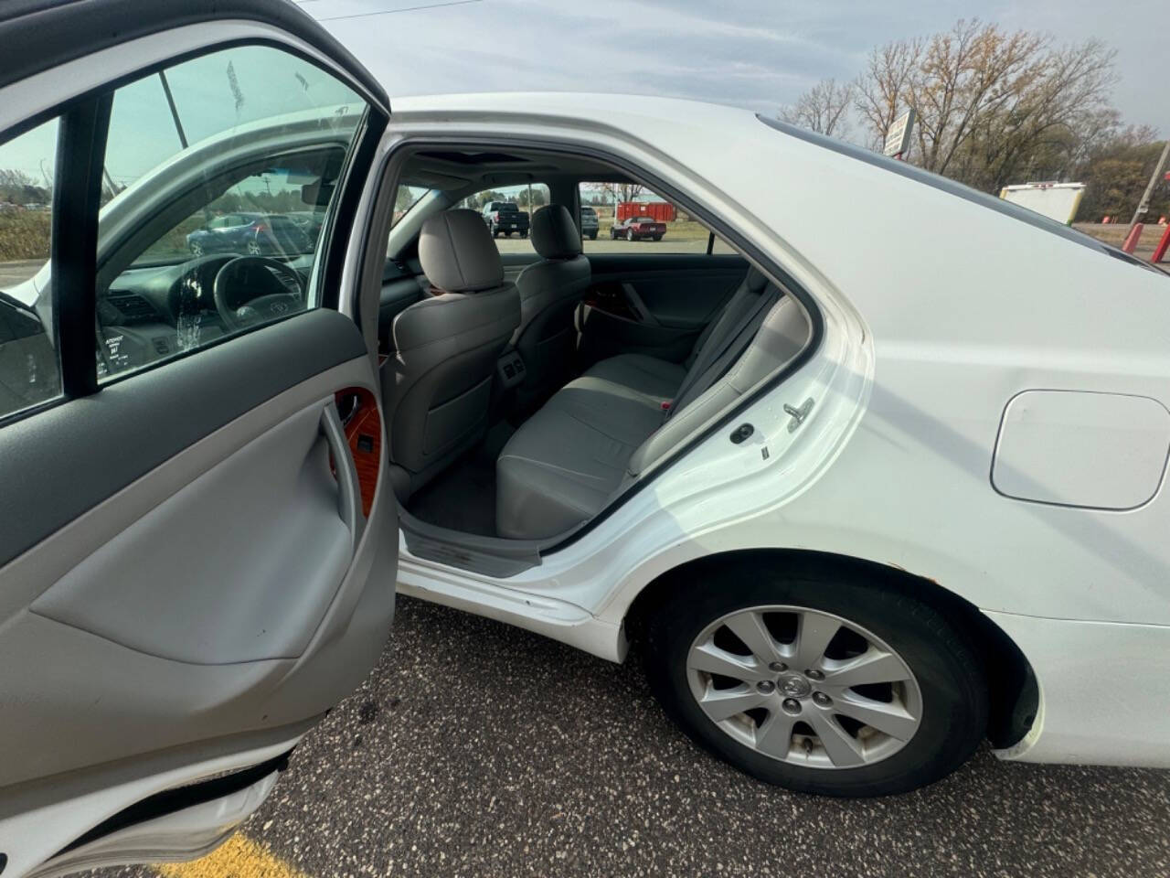
<path fill-rule="evenodd" d="M 260 46 L 115 90 L 99 380 L 319 304 L 321 242 L 365 109 L 330 74 Z"/>

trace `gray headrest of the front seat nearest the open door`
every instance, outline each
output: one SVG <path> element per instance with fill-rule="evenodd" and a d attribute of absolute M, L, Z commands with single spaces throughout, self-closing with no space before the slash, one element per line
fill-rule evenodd
<path fill-rule="evenodd" d="M 504 266 L 491 233 L 475 211 L 443 211 L 419 233 L 422 273 L 447 293 L 477 293 L 504 282 Z"/>

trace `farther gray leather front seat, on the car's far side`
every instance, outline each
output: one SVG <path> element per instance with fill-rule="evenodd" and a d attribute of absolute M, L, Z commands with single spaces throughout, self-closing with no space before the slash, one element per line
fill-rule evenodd
<path fill-rule="evenodd" d="M 516 389 L 521 409 L 569 379 L 577 347 L 573 311 L 590 283 L 580 232 L 564 205 L 532 214 L 530 234 L 543 259 L 516 279 L 521 320 L 514 343 L 525 366 L 524 382 Z"/>

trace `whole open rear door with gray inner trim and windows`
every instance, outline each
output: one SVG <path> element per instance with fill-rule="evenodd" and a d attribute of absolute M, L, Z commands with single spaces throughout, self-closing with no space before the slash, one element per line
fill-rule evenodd
<path fill-rule="evenodd" d="M 398 550 L 338 310 L 385 96 L 291 5 L 35 6 L 0 18 L 4 878 L 222 841 L 376 663 Z"/>

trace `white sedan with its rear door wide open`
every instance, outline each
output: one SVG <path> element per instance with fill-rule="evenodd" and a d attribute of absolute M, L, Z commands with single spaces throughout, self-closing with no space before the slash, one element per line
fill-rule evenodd
<path fill-rule="evenodd" d="M 0 166 L 71 144 L 54 259 L 0 297 L 4 878 L 206 853 L 391 660 L 395 590 L 611 661 L 640 640 L 694 741 L 790 789 L 900 793 L 984 741 L 1170 767 L 1165 274 L 745 110 L 392 114 L 292 6 L 104 2 L 95 29 L 98 2 L 0 12 Z M 145 125 L 118 90 L 236 53 L 250 121 L 201 108 L 219 130 L 97 210 L 102 132 Z M 309 59 L 331 82 L 288 112 L 263 76 Z M 599 277 L 552 204 L 508 280 L 455 205 L 525 162 L 567 203 L 620 167 L 734 252 Z M 277 167 L 329 218 L 310 252 L 138 261 Z M 391 227 L 386 180 L 441 186 Z"/>

